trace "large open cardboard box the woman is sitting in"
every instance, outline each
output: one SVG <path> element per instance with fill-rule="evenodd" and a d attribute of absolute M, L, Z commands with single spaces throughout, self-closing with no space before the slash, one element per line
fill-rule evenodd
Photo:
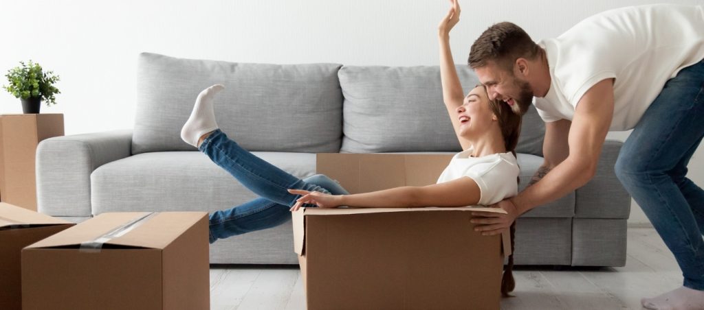
<path fill-rule="evenodd" d="M 318 173 L 351 193 L 435 183 L 448 155 L 319 154 Z M 510 240 L 482 236 L 472 210 L 302 208 L 294 247 L 308 310 L 499 309 Z M 503 251 L 505 248 L 506 251 Z"/>

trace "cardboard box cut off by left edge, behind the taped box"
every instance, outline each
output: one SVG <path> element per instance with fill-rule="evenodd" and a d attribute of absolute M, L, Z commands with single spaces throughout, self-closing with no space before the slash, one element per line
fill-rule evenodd
<path fill-rule="evenodd" d="M 22 248 L 73 225 L 0 202 L 0 309 L 22 309 Z"/>

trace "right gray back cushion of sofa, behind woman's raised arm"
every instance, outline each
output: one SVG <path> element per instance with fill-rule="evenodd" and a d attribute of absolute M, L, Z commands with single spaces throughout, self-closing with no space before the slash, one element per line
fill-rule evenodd
<path fill-rule="evenodd" d="M 465 93 L 479 84 L 457 65 Z M 358 67 L 339 70 L 343 153 L 460 151 L 443 103 L 440 67 Z M 544 125 L 534 108 L 524 116 L 518 153 L 542 155 Z"/>

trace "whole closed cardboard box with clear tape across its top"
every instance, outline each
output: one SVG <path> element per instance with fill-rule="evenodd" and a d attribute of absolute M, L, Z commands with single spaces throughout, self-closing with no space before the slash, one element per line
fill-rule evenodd
<path fill-rule="evenodd" d="M 22 251 L 23 309 L 209 309 L 206 212 L 103 213 Z"/>

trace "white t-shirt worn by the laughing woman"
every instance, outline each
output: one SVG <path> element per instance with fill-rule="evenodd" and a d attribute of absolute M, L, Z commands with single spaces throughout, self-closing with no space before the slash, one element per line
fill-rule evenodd
<path fill-rule="evenodd" d="M 477 182 L 482 193 L 477 205 L 492 205 L 518 193 L 518 162 L 511 153 L 496 153 L 471 157 L 472 148 L 458 153 L 437 183 L 444 183 L 468 176 Z"/>

